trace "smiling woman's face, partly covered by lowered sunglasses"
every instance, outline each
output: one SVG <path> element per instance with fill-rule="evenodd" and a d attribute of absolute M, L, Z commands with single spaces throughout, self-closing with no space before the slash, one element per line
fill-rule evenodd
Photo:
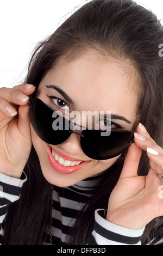
<path fill-rule="evenodd" d="M 36 97 L 55 111 L 78 111 L 81 117 L 83 111 L 111 111 L 111 115 L 115 115 L 111 119 L 111 129 L 132 131 L 136 118 L 137 97 L 133 92 L 136 79 L 131 78 L 128 70 L 127 65 L 117 64 L 99 53 L 83 54 L 73 62 L 57 65 L 47 72 Z M 54 87 L 49 88 L 50 85 Z M 71 186 L 101 173 L 119 157 L 93 160 L 84 154 L 80 136 L 75 133 L 59 145 L 48 145 L 36 135 L 32 126 L 31 130 L 42 173 L 48 182 L 57 186 Z M 73 171 L 68 172 L 72 166 Z"/>

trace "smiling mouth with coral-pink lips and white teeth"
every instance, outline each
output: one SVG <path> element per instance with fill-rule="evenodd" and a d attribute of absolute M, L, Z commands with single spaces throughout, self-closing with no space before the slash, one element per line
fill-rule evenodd
<path fill-rule="evenodd" d="M 51 148 L 49 144 L 47 144 L 47 155 L 51 166 L 58 172 L 66 174 L 77 172 L 77 170 L 83 168 L 87 163 L 90 162 L 66 156 Z"/>

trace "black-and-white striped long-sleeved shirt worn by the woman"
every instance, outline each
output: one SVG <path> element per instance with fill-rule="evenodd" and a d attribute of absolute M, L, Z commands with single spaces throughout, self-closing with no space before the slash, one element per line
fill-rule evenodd
<path fill-rule="evenodd" d="M 52 209 L 52 245 L 66 245 L 69 232 L 76 222 L 92 188 L 103 174 L 95 175 L 70 187 L 53 186 Z M 2 223 L 7 214 L 8 205 L 18 200 L 21 188 L 27 177 L 16 179 L 0 173 L 0 241 L 4 235 Z M 104 209 L 95 211 L 95 227 L 87 240 L 87 245 L 141 245 L 143 229 L 134 230 L 120 227 L 103 218 Z M 50 241 L 50 239 L 48 239 Z M 0 243 L 0 244 L 1 244 Z M 47 241 L 45 241 L 47 244 Z"/>

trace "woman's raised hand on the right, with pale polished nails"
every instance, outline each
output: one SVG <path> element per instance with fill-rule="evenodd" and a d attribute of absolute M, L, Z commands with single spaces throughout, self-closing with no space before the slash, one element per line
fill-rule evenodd
<path fill-rule="evenodd" d="M 163 215 L 163 149 L 149 136 L 145 127 L 137 126 L 134 144 L 124 161 L 120 179 L 112 191 L 106 220 L 122 227 L 141 229 L 155 217 Z M 148 149 L 147 149 L 148 148 Z M 151 169 L 147 176 L 138 176 L 137 168 L 142 149 L 147 152 Z"/>

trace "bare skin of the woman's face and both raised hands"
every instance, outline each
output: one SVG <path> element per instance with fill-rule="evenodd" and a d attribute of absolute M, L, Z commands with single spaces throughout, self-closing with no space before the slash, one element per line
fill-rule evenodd
<path fill-rule="evenodd" d="M 112 114 L 123 115 L 130 120 L 131 124 L 116 120 L 116 123 L 122 126 L 121 129 L 133 129 L 136 97 L 131 88 L 136 81 L 133 76 L 131 79 L 127 74 L 125 65 L 91 54 L 52 69 L 41 81 L 37 92 L 37 97 L 52 107 L 52 102 L 48 101 L 46 94 L 55 95 L 60 99 L 62 97 L 53 89 L 45 88 L 47 83 L 55 83 L 64 89 L 76 102 L 75 110 L 109 110 Z M 116 161 L 117 157 L 104 161 L 89 159 L 80 148 L 79 136 L 72 134 L 66 142 L 55 146 L 56 149 L 65 155 L 91 161 L 82 170 L 70 175 L 55 172 L 48 162 L 45 143 L 30 127 L 27 95 L 32 94 L 35 88 L 32 85 L 28 85 L 31 86 L 29 88 L 26 86 L 27 84 L 20 84 L 12 89 L 0 89 L 2 174 L 20 178 L 32 143 L 39 156 L 43 175 L 58 186 L 70 186 L 88 176 L 103 172 Z M 17 97 L 18 95 L 23 95 L 24 100 Z M 18 115 L 7 111 L 7 106 L 12 107 L 13 113 L 18 111 Z M 70 109 L 74 110 L 71 106 Z M 163 149 L 153 141 L 142 125 L 137 125 L 134 141 L 129 147 L 120 179 L 111 193 L 106 221 L 130 229 L 141 229 L 153 218 L 163 215 L 162 197 L 159 197 L 163 179 L 157 175 L 163 175 Z M 137 176 L 142 149 L 147 151 L 147 147 L 158 151 L 158 154 L 147 152 L 151 169 L 147 176 Z"/>

